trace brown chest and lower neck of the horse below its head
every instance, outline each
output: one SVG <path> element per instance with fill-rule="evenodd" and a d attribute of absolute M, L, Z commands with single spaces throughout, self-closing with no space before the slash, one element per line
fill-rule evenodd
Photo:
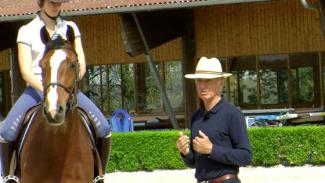
<path fill-rule="evenodd" d="M 51 126 L 44 120 L 38 112 L 26 138 L 20 156 L 24 165 L 20 165 L 21 182 L 91 182 L 92 146 L 77 110 L 67 113 L 61 126 Z"/>

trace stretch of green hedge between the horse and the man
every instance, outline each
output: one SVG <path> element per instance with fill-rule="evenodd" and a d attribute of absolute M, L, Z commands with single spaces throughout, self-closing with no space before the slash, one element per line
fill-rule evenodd
<path fill-rule="evenodd" d="M 113 133 L 108 171 L 184 169 L 176 131 Z"/>

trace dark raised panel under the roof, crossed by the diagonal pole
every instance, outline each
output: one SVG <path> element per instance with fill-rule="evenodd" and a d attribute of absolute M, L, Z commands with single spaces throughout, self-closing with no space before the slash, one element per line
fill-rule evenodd
<path fill-rule="evenodd" d="M 149 49 L 158 47 L 185 32 L 185 21 L 188 10 L 153 11 L 137 13 L 137 18 Z M 122 38 L 126 52 L 130 56 L 145 53 L 140 34 L 132 14 L 121 14 Z"/>

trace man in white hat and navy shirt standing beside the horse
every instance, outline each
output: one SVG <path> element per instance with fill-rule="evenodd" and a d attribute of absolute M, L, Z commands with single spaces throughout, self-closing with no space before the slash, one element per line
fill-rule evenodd
<path fill-rule="evenodd" d="M 252 152 L 244 115 L 222 98 L 230 73 L 222 72 L 217 58 L 200 58 L 194 74 L 202 106 L 191 119 L 191 137 L 180 133 L 177 149 L 185 164 L 195 168 L 198 183 L 240 183 L 239 166 L 248 165 Z"/>

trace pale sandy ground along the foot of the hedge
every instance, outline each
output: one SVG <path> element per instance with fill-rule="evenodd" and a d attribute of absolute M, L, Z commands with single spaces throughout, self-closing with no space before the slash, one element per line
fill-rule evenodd
<path fill-rule="evenodd" d="M 242 183 L 325 183 L 325 166 L 244 167 Z M 157 170 L 153 172 L 115 172 L 106 174 L 107 183 L 196 183 L 194 170 Z"/>

